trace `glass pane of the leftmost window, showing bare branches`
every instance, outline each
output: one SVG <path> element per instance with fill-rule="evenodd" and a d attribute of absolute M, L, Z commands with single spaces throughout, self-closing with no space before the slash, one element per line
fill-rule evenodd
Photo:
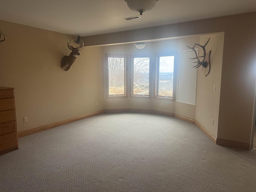
<path fill-rule="evenodd" d="M 125 95 L 124 57 L 108 57 L 108 94 Z"/>

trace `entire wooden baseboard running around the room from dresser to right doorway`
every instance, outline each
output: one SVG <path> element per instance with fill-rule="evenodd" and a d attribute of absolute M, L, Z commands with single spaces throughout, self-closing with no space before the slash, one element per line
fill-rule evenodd
<path fill-rule="evenodd" d="M 78 120 L 81 120 L 81 119 L 85 119 L 85 118 L 88 118 L 88 117 L 96 116 L 96 115 L 99 115 L 99 114 L 103 114 L 103 113 L 121 113 L 121 112 L 152 113 L 152 114 L 158 114 L 158 115 L 164 115 L 164 116 L 179 118 L 181 120 L 184 120 L 184 121 L 195 124 L 198 128 L 200 128 L 200 130 L 202 130 L 202 132 L 204 132 L 204 134 L 206 134 L 206 136 L 208 136 L 217 145 L 224 145 L 224 146 L 229 146 L 229 147 L 234 147 L 234 148 L 239 148 L 239 149 L 250 150 L 250 144 L 249 143 L 242 143 L 242 142 L 236 142 L 236 141 L 230 141 L 230 140 L 224 140 L 224 139 L 216 138 L 206 128 L 204 128 L 204 126 L 202 126 L 200 123 L 198 123 L 194 119 L 190 119 L 190 118 L 187 118 L 187 117 L 184 117 L 184 116 L 181 116 L 181 115 L 177 115 L 177 114 L 174 114 L 174 113 L 170 113 L 170 112 L 156 111 L 156 110 L 150 110 L 150 109 L 105 109 L 105 110 L 100 110 L 100 111 L 97 111 L 97 112 L 85 114 L 85 115 L 78 116 L 78 117 L 75 117 L 75 118 L 71 118 L 71 119 L 68 119 L 68 120 L 64 120 L 64 121 L 52 123 L 52 124 L 49 124 L 49 125 L 45 125 L 45 126 L 42 126 L 42 127 L 38 127 L 38 128 L 34 128 L 34 129 L 19 132 L 18 133 L 18 138 L 28 136 L 28 135 L 31 135 L 31 134 L 34 134 L 34 133 L 37 133 L 37 132 L 41 132 L 41 131 L 44 131 L 44 130 L 52 129 L 52 128 L 62 126 L 64 124 L 68 124 L 68 123 L 78 121 Z"/>

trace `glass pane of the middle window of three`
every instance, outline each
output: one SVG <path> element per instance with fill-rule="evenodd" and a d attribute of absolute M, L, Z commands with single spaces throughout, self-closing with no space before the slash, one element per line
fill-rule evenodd
<path fill-rule="evenodd" d="M 133 58 L 133 95 L 149 95 L 149 57 Z"/>

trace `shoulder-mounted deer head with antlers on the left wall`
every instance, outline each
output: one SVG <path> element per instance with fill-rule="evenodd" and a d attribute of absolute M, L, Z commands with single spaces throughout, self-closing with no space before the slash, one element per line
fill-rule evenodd
<path fill-rule="evenodd" d="M 70 38 L 68 38 L 69 41 Z M 69 68 L 71 67 L 71 65 L 75 62 L 76 57 L 80 55 L 79 51 L 82 50 L 83 46 L 84 46 L 84 41 L 82 39 L 80 39 L 79 41 L 79 47 L 76 46 L 73 47 L 72 45 L 70 45 L 75 39 L 73 39 L 72 41 L 68 42 L 68 48 L 72 51 L 69 56 L 64 56 L 61 60 L 61 68 L 64 69 L 65 71 L 69 70 Z"/>

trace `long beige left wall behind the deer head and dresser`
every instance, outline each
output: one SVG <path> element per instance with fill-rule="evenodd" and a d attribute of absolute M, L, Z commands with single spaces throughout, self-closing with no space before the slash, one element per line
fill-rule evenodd
<path fill-rule="evenodd" d="M 84 47 L 64 71 L 68 35 L 4 21 L 0 26 L 8 31 L 0 44 L 0 86 L 15 88 L 18 132 L 103 109 L 101 47 Z"/>

